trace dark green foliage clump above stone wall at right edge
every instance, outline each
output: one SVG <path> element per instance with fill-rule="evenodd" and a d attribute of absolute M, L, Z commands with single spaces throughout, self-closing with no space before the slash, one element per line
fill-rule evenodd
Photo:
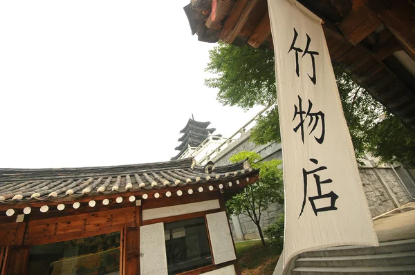
<path fill-rule="evenodd" d="M 387 114 L 369 131 L 369 151 L 382 162 L 401 162 L 415 168 L 415 129 Z M 392 145 L 393 144 L 393 145 Z"/>

